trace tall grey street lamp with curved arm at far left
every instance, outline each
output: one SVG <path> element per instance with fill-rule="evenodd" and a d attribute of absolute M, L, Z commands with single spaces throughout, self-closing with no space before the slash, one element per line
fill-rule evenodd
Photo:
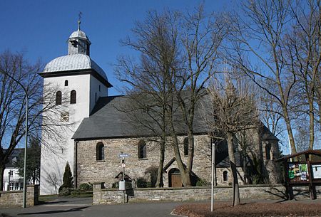
<path fill-rule="evenodd" d="M 25 132 L 25 146 L 24 146 L 24 199 L 22 200 L 22 208 L 26 208 L 26 153 L 27 153 L 27 146 L 28 146 L 28 107 L 29 107 L 29 98 L 28 98 L 28 92 L 26 91 L 26 88 L 24 88 L 24 85 L 22 85 L 16 78 L 12 77 L 8 73 L 5 73 L 3 70 L 0 70 L 0 73 L 3 73 L 4 75 L 7 75 L 9 78 L 14 80 L 16 83 L 18 83 L 22 89 L 24 89 L 24 92 L 26 94 L 26 132 Z"/>

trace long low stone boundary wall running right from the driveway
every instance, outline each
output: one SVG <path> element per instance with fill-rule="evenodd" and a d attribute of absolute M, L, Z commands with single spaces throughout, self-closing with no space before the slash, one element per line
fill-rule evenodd
<path fill-rule="evenodd" d="M 307 187 L 293 188 L 295 199 L 310 199 Z M 133 196 L 126 195 L 126 202 L 138 201 L 206 201 L 210 200 L 210 188 L 164 188 L 164 189 L 133 189 Z M 317 187 L 320 195 L 321 187 Z M 218 201 L 232 200 L 232 187 L 216 186 L 214 199 Z M 282 185 L 240 186 L 241 200 L 284 200 L 285 187 Z M 93 204 L 123 203 L 123 191 L 101 189 L 101 184 L 93 185 Z"/>

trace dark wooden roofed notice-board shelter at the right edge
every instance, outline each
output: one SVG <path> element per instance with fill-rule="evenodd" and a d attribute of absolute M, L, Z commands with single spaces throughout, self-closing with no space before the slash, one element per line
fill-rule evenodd
<path fill-rule="evenodd" d="M 297 152 L 277 159 L 283 162 L 288 199 L 293 199 L 293 186 L 309 186 L 310 199 L 317 199 L 315 186 L 321 186 L 321 150 Z"/>

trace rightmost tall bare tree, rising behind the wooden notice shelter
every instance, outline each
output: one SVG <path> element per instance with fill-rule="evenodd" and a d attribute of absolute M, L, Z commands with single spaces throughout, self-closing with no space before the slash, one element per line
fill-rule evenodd
<path fill-rule="evenodd" d="M 297 105 L 294 112 L 307 116 L 309 120 L 309 149 L 315 143 L 315 98 L 320 78 L 320 36 L 321 16 L 320 1 L 293 1 L 290 4 L 295 25 L 285 36 L 287 64 L 297 75 Z M 300 127 L 300 126 L 299 126 Z"/>

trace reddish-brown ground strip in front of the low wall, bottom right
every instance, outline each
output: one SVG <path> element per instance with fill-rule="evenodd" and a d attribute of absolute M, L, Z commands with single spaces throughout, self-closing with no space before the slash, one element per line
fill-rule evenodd
<path fill-rule="evenodd" d="M 173 213 L 188 217 L 256 217 L 256 216 L 321 216 L 321 203 L 294 202 L 250 202 L 231 206 L 228 202 L 215 202 L 214 211 L 210 203 L 189 203 L 178 206 Z"/>

